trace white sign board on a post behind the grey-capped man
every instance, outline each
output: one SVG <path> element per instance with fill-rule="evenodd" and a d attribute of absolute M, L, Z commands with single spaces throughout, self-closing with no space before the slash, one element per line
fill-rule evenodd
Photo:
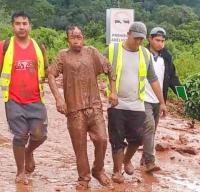
<path fill-rule="evenodd" d="M 106 43 L 117 43 L 127 38 L 129 26 L 134 21 L 133 9 L 106 10 Z"/>

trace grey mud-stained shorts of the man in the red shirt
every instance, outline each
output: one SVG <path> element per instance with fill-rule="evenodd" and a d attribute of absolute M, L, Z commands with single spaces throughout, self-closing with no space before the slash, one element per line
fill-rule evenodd
<path fill-rule="evenodd" d="M 6 117 L 14 139 L 43 139 L 47 135 L 47 111 L 41 102 L 20 104 L 9 100 L 5 104 Z"/>

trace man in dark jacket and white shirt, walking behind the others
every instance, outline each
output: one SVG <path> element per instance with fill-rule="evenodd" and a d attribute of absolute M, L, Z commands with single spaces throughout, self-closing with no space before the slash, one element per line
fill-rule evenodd
<path fill-rule="evenodd" d="M 175 86 L 180 85 L 176 75 L 175 66 L 172 62 L 172 56 L 164 48 L 166 31 L 161 27 L 155 27 L 151 30 L 149 36 L 149 50 L 152 53 L 152 61 L 155 73 L 158 77 L 160 87 L 163 90 L 164 100 L 167 100 L 167 92 L 170 87 L 176 93 Z M 160 170 L 155 165 L 154 156 L 154 138 L 155 131 L 159 121 L 160 103 L 154 94 L 148 81 L 145 82 L 145 123 L 144 123 L 144 146 L 141 164 L 145 165 L 147 172 Z"/>

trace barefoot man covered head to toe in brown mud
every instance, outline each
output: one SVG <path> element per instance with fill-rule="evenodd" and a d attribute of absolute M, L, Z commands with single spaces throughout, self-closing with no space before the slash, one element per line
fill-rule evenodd
<path fill-rule="evenodd" d="M 59 51 L 48 70 L 49 86 L 56 100 L 56 107 L 67 117 L 67 126 L 76 155 L 78 183 L 76 189 L 88 188 L 90 167 L 87 156 L 87 133 L 94 144 L 95 160 L 92 176 L 103 186 L 111 187 L 104 172 L 107 135 L 97 76 L 105 73 L 110 80 L 109 101 L 117 105 L 115 76 L 109 61 L 94 47 L 86 47 L 84 35 L 78 26 L 66 29 L 69 49 Z M 59 93 L 56 77 L 63 74 L 64 99 Z"/>

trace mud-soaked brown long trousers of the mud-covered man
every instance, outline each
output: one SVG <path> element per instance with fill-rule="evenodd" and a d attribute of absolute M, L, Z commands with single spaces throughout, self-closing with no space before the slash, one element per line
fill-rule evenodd
<path fill-rule="evenodd" d="M 87 156 L 87 133 L 94 144 L 92 172 L 104 172 L 104 158 L 107 148 L 106 126 L 102 109 L 87 108 L 67 115 L 67 125 L 76 155 L 79 181 L 89 181 L 90 167 Z"/>

